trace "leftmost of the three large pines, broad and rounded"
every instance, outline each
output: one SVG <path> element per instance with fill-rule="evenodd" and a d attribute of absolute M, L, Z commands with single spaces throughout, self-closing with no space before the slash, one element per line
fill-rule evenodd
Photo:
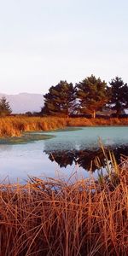
<path fill-rule="evenodd" d="M 61 81 L 49 88 L 49 92 L 44 95 L 44 108 L 41 113 L 49 115 L 67 116 L 73 111 L 74 102 L 73 84 Z"/>

